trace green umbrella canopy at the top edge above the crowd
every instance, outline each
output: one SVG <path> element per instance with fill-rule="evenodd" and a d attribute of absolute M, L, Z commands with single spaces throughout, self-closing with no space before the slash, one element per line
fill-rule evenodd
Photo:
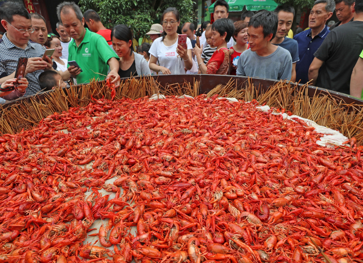
<path fill-rule="evenodd" d="M 257 11 L 261 9 L 266 9 L 268 11 L 274 11 L 278 6 L 273 0 L 228 0 L 229 11 L 237 12 L 242 11 L 243 7 L 249 11 Z M 208 7 L 209 13 L 214 13 L 214 3 Z"/>

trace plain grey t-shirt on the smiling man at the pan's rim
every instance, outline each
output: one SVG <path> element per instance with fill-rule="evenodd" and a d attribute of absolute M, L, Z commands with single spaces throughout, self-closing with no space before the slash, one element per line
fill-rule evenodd
<path fill-rule="evenodd" d="M 269 79 L 291 79 L 292 59 L 290 52 L 278 46 L 276 51 L 267 57 L 260 57 L 256 52 L 247 49 L 237 62 L 237 75 Z"/>

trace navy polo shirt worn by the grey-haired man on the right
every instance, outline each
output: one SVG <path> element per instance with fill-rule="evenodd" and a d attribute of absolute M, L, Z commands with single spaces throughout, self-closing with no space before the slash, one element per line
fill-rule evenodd
<path fill-rule="evenodd" d="M 311 37 L 311 29 L 302 31 L 294 36 L 294 39 L 299 45 L 299 58 L 296 62 L 296 81 L 300 81 L 301 84 L 305 84 L 309 81 L 308 73 L 311 62 L 314 60 L 314 53 L 323 43 L 324 39 L 328 35 L 330 30 L 325 25 L 325 28 L 317 34 L 314 39 Z"/>

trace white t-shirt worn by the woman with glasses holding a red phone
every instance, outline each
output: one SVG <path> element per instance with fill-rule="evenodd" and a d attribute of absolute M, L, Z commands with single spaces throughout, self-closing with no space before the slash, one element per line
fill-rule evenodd
<path fill-rule="evenodd" d="M 173 44 L 171 46 L 166 46 L 162 42 L 162 37 L 159 37 L 151 45 L 149 53 L 151 55 L 153 55 L 155 58 L 158 58 L 158 62 L 160 63 L 160 66 L 165 67 L 169 70 L 172 70 L 172 69 L 174 69 L 175 64 L 178 62 L 177 61 L 178 53 L 176 53 L 177 45 L 178 45 L 178 42 L 176 41 L 175 44 Z M 189 38 L 187 38 L 187 48 L 193 49 Z M 184 64 L 183 59 L 182 59 L 182 63 Z M 160 72 L 159 74 L 162 74 L 162 73 Z"/>

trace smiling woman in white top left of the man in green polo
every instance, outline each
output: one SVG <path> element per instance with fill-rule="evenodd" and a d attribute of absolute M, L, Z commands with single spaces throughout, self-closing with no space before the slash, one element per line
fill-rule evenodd
<path fill-rule="evenodd" d="M 71 74 L 69 73 L 67 67 L 68 61 L 64 58 L 60 58 L 62 57 L 63 50 L 61 40 L 58 36 L 51 35 L 50 37 L 48 37 L 45 45 L 50 49 L 54 49 L 54 53 L 52 55 L 54 61 L 53 68 L 61 74 L 64 81 L 67 81 L 70 78 Z"/>

